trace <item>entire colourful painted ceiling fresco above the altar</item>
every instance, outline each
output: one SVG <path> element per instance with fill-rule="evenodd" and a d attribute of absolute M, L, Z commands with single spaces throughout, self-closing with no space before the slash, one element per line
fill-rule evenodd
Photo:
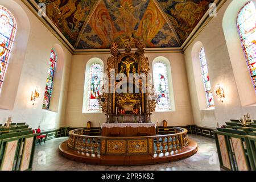
<path fill-rule="evenodd" d="M 180 47 L 214 0 L 34 0 L 75 49 L 110 48 L 127 36 L 147 48 Z"/>

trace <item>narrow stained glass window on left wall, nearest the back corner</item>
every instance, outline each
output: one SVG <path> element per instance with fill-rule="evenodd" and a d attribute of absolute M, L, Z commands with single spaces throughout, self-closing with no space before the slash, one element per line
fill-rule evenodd
<path fill-rule="evenodd" d="M 48 74 L 46 80 L 46 91 L 44 92 L 44 101 L 43 109 L 49 109 L 49 104 L 52 97 L 52 88 L 53 88 L 53 78 L 56 68 L 57 55 L 54 49 L 51 51 L 49 65 L 48 65 Z"/>

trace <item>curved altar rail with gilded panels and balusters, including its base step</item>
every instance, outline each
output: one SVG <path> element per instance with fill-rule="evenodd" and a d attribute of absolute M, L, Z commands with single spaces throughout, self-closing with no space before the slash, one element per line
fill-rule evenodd
<path fill-rule="evenodd" d="M 60 154 L 89 164 L 133 166 L 157 164 L 188 158 L 197 152 L 187 130 L 174 127 L 174 134 L 147 137 L 96 137 L 83 129 L 69 132 L 60 144 Z"/>

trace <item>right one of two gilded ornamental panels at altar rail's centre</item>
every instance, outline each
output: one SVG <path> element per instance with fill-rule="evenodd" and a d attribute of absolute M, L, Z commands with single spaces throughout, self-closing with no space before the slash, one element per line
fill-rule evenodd
<path fill-rule="evenodd" d="M 129 153 L 145 153 L 147 152 L 147 140 L 129 140 L 128 141 Z"/>

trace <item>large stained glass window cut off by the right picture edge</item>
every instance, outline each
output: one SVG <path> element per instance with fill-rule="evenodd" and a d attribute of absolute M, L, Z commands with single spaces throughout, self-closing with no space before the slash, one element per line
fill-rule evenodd
<path fill-rule="evenodd" d="M 246 63 L 250 71 L 256 91 L 256 14 L 252 1 L 247 2 L 237 16 L 237 28 L 245 53 Z"/>

